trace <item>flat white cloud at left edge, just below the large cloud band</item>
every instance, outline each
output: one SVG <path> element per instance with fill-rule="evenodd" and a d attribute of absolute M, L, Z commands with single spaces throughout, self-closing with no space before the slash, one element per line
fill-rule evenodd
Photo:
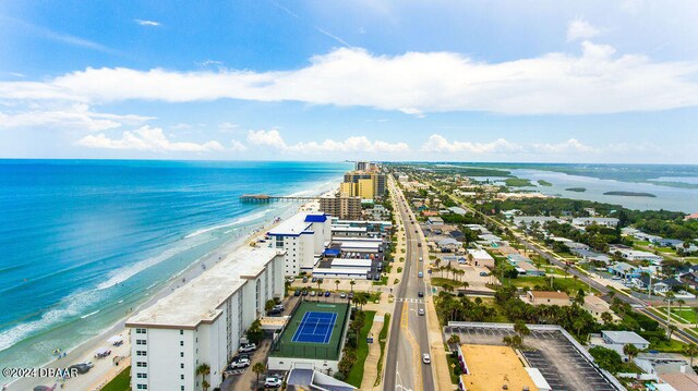
<path fill-rule="evenodd" d="M 50 106 L 50 105 L 49 105 Z M 91 111 L 87 105 L 74 103 L 46 107 L 41 110 L 29 106 L 24 111 L 0 112 L 0 129 L 51 127 L 73 131 L 99 132 L 123 124 L 136 125 L 153 120 L 135 114 L 110 114 Z"/>

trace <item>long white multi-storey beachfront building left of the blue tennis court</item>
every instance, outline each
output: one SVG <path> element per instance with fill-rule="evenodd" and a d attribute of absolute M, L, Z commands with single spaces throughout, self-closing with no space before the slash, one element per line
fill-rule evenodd
<path fill-rule="evenodd" d="M 284 295 L 284 252 L 240 248 L 203 274 L 127 321 L 131 389 L 203 390 L 196 368 L 206 364 L 209 390 L 268 300 Z"/>

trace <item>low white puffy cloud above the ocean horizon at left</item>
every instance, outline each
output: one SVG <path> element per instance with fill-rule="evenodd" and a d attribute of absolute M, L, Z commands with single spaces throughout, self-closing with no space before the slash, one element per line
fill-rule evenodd
<path fill-rule="evenodd" d="M 109 138 L 104 133 L 87 135 L 77 145 L 87 148 L 130 149 L 154 152 L 208 152 L 220 151 L 225 148 L 220 143 L 212 140 L 203 144 L 170 142 L 159 127 L 142 126 L 133 132 L 123 132 L 121 138 Z"/>

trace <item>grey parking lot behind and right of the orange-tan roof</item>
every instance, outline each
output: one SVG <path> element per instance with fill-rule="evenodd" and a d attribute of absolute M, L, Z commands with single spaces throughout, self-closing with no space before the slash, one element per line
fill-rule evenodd
<path fill-rule="evenodd" d="M 453 333 L 461 343 L 502 345 L 506 335 L 515 335 L 512 328 L 445 327 L 445 340 Z M 538 368 L 554 391 L 612 391 L 616 388 L 557 330 L 537 331 L 524 339 L 526 361 Z"/>

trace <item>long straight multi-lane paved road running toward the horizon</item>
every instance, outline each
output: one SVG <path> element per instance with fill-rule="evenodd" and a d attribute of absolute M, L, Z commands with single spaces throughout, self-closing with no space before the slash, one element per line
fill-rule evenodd
<path fill-rule="evenodd" d="M 392 188 L 395 190 L 392 180 L 390 183 Z M 419 258 L 428 259 L 428 256 L 423 253 L 423 247 L 418 246 L 418 243 L 422 241 L 421 231 L 416 224 L 417 220 L 414 220 L 411 210 L 404 203 L 402 192 L 397 190 L 395 194 L 398 199 L 395 206 L 405 222 L 407 253 L 402 281 L 395 292 L 393 317 L 395 321 L 390 326 L 383 389 L 431 391 L 435 390 L 432 368 L 430 365 L 422 364 L 422 353 L 429 353 L 426 317 L 418 314 L 419 308 L 424 308 L 423 300 L 418 297 L 418 293 L 425 292 L 423 278 L 418 277 L 419 271 L 424 272 L 424 262 L 419 261 Z M 410 223 L 410 220 L 416 223 Z"/>

